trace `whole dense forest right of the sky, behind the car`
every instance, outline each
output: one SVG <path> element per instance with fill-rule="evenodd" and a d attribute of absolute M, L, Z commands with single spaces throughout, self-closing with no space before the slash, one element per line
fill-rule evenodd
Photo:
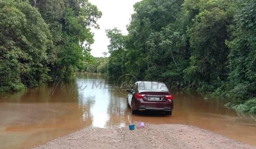
<path fill-rule="evenodd" d="M 256 114 L 256 0 L 143 0 L 110 38 L 107 73 L 228 97 Z"/>

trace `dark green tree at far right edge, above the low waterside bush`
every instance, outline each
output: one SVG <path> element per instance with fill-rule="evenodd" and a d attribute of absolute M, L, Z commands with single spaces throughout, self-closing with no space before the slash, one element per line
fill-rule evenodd
<path fill-rule="evenodd" d="M 247 82 L 252 92 L 256 91 L 256 4 L 251 1 L 238 3 L 235 24 L 230 26 L 231 41 L 229 67 L 232 83 Z"/>

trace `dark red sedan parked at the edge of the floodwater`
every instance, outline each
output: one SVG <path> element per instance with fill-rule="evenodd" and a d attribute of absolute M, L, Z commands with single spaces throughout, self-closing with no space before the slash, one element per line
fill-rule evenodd
<path fill-rule="evenodd" d="M 173 95 L 167 86 L 157 81 L 137 81 L 126 90 L 127 105 L 131 107 L 132 114 L 137 111 L 165 111 L 172 115 Z"/>

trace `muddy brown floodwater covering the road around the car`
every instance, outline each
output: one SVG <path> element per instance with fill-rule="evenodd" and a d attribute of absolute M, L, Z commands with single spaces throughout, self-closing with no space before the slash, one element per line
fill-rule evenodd
<path fill-rule="evenodd" d="M 126 93 L 119 92 L 116 80 L 104 74 L 78 73 L 63 88 L 57 81 L 1 95 L 0 148 L 31 148 L 85 127 L 123 127 L 140 121 L 193 125 L 256 145 L 255 117 L 238 116 L 223 106 L 225 99 L 206 100 L 197 93 L 172 91 L 173 115 L 131 114 Z"/>

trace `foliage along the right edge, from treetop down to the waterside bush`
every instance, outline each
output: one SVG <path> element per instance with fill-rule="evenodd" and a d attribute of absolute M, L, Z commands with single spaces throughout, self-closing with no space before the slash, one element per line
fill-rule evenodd
<path fill-rule="evenodd" d="M 238 112 L 256 113 L 256 1 L 238 1 L 235 6 L 234 24 L 229 28 L 230 48 L 229 91 L 233 108 Z M 236 105 L 239 104 L 239 105 Z M 234 106 L 235 105 L 235 106 Z"/>

